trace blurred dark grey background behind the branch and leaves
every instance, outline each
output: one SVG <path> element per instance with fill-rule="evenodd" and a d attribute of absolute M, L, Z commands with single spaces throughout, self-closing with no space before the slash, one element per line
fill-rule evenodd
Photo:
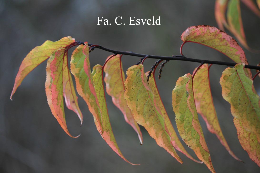
<path fill-rule="evenodd" d="M 93 116 L 86 103 L 79 97 L 83 113 L 83 125 L 76 114 L 65 109 L 70 138 L 51 114 L 45 95 L 46 61 L 30 73 L 9 99 L 19 66 L 27 53 L 45 40 L 56 41 L 65 36 L 76 40 L 100 44 L 110 49 L 161 56 L 179 55 L 181 33 L 193 25 L 217 26 L 214 17 L 214 1 L 64 1 L 64 0 L 0 0 L 0 172 L 210 172 L 204 164 L 198 164 L 179 153 L 183 164 L 178 163 L 141 127 L 144 144 L 139 144 L 134 130 L 125 122 L 110 96 L 107 96 L 110 121 L 118 145 L 133 166 L 123 161 L 97 132 Z M 254 49 L 260 49 L 260 19 L 241 4 L 246 37 Z M 122 16 L 126 25 L 96 25 L 97 16 L 111 22 Z M 161 25 L 127 25 L 128 16 L 147 19 L 161 16 Z M 228 32 L 229 33 L 229 32 Z M 185 56 L 190 58 L 228 61 L 223 54 L 206 46 L 185 44 Z M 259 63 L 259 54 L 246 51 L 249 64 Z M 95 49 L 90 63 L 103 64 L 110 53 Z M 137 57 L 123 56 L 123 67 L 136 64 Z M 149 70 L 154 59 L 147 59 Z M 171 92 L 176 80 L 185 73 L 192 73 L 198 63 L 170 61 L 166 64 L 161 80 L 157 80 L 162 101 L 173 126 L 175 115 L 171 106 Z M 219 78 L 225 66 L 213 65 L 210 79 L 214 103 L 220 126 L 232 151 L 245 163 L 233 159 L 211 134 L 199 115 L 205 139 L 216 172 L 260 172 L 237 139 L 230 105 L 221 95 Z M 253 75 L 255 71 L 252 71 Z M 260 93 L 260 79 L 255 87 Z M 187 151 L 196 155 L 183 142 Z M 197 157 L 196 157 L 197 158 Z"/>

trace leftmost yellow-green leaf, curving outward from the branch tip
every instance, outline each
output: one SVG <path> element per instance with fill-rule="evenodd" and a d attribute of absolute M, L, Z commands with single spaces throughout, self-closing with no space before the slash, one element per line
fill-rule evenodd
<path fill-rule="evenodd" d="M 43 61 L 48 59 L 54 51 L 59 48 L 64 48 L 75 41 L 74 38 L 68 36 L 63 37 L 59 41 L 45 41 L 41 46 L 35 47 L 27 56 L 23 59 L 22 64 L 19 68 L 19 71 L 15 78 L 14 88 L 12 90 L 10 99 L 14 95 L 18 86 L 21 85 L 21 82 L 35 67 L 41 64 Z"/>

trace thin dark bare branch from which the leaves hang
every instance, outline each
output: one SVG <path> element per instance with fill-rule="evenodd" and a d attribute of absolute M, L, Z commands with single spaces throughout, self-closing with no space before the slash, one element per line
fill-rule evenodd
<path fill-rule="evenodd" d="M 78 43 L 84 44 L 83 42 L 77 41 Z M 91 51 L 93 51 L 95 48 L 102 49 L 107 52 L 112 52 L 114 54 L 122 54 L 122 55 L 130 55 L 134 57 L 146 57 L 147 58 L 152 58 L 152 59 L 162 59 L 162 60 L 179 60 L 179 61 L 190 61 L 190 62 L 195 62 L 195 63 L 204 63 L 204 64 L 216 64 L 216 65 L 226 65 L 226 66 L 235 66 L 237 63 L 228 63 L 228 62 L 223 62 L 223 61 L 210 61 L 210 60 L 203 60 L 203 59 L 193 59 L 193 58 L 187 58 L 182 55 L 174 55 L 172 57 L 165 57 L 165 56 L 155 56 L 155 55 L 146 55 L 146 54 L 139 54 L 139 53 L 133 53 L 133 52 L 123 52 L 123 51 L 116 51 L 116 50 L 111 50 L 107 49 L 105 47 L 102 47 L 100 45 L 94 45 L 88 43 L 89 46 L 91 47 Z M 254 65 L 246 65 L 245 68 L 250 68 L 250 69 L 255 69 L 255 70 L 260 70 L 260 66 L 254 66 Z"/>

